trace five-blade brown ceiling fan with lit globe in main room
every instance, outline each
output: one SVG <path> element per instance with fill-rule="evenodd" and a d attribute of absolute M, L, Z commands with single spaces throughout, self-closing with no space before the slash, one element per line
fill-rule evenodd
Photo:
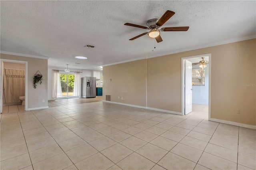
<path fill-rule="evenodd" d="M 156 42 L 159 43 L 159 42 L 163 41 L 161 36 L 160 36 L 160 32 L 164 32 L 164 31 L 187 31 L 188 30 L 189 27 L 166 27 L 166 28 L 161 28 L 160 29 L 160 27 L 167 20 L 169 20 L 174 14 L 175 14 L 175 12 L 167 10 L 160 19 L 154 18 L 154 19 L 148 20 L 148 22 L 147 22 L 148 27 L 139 26 L 139 25 L 130 24 L 130 23 L 125 23 L 124 25 L 150 30 L 150 32 L 144 32 L 143 34 L 140 34 L 140 35 L 138 35 L 134 38 L 131 38 L 130 40 L 135 40 L 136 38 L 139 38 L 141 36 L 144 36 L 144 35 L 148 34 L 148 36 L 150 36 L 151 38 L 155 38 Z"/>

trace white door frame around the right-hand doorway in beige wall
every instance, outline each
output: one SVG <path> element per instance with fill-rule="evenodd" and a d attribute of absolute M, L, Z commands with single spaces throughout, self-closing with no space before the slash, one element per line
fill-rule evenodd
<path fill-rule="evenodd" d="M 204 56 L 208 56 L 209 57 L 209 63 L 208 63 L 208 67 L 209 67 L 209 90 L 208 90 L 208 119 L 211 118 L 211 64 L 212 64 L 212 54 L 208 53 L 208 54 L 202 54 L 202 55 L 194 55 L 194 56 L 190 56 L 190 57 L 182 57 L 181 58 L 181 113 L 182 115 L 184 114 L 184 107 L 185 107 L 185 60 L 186 59 L 193 59 L 193 58 L 199 58 L 199 57 L 204 57 Z"/>

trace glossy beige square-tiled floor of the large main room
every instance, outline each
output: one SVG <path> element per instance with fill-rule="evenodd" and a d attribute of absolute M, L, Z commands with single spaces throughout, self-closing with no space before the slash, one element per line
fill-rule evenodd
<path fill-rule="evenodd" d="M 196 113 L 104 102 L 5 112 L 0 169 L 256 169 L 256 130 Z"/>

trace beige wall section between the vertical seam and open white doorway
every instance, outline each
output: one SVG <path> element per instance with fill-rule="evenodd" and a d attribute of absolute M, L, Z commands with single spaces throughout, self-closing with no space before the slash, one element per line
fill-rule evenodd
<path fill-rule="evenodd" d="M 181 112 L 181 59 L 154 57 L 148 59 L 148 107 Z"/>

